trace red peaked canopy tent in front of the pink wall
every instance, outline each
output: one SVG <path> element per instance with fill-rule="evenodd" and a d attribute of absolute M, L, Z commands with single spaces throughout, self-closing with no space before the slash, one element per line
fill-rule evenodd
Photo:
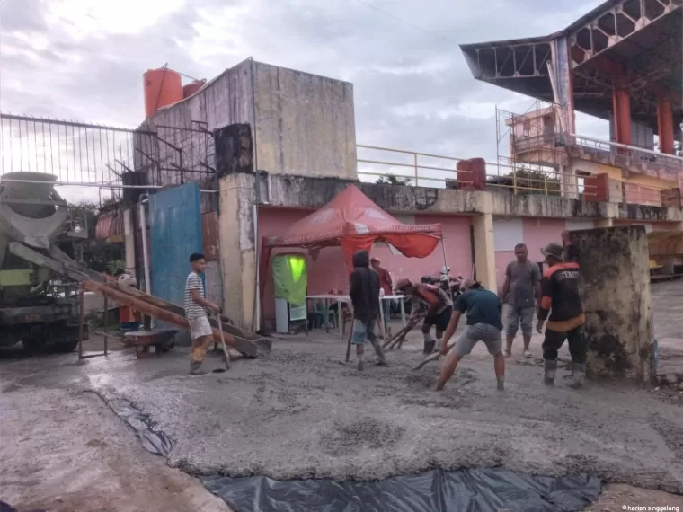
<path fill-rule="evenodd" d="M 350 272 L 353 253 L 370 252 L 376 241 L 391 243 L 408 258 L 426 258 L 441 238 L 440 224 L 405 225 L 378 207 L 358 187 L 349 185 L 324 207 L 289 226 L 284 234 L 263 237 L 261 295 L 273 247 L 320 249 L 341 245 Z"/>

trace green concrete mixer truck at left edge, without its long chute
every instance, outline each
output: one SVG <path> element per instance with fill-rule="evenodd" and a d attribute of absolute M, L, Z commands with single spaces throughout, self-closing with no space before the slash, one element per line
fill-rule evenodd
<path fill-rule="evenodd" d="M 0 176 L 0 347 L 71 351 L 78 343 L 78 284 L 22 258 L 22 248 L 49 254 L 87 236 L 74 230 L 57 177 L 39 172 Z"/>

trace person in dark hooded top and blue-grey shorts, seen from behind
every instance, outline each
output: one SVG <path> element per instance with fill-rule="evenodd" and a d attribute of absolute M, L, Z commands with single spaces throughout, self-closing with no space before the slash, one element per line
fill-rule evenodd
<path fill-rule="evenodd" d="M 386 366 L 384 352 L 375 333 L 379 314 L 379 275 L 370 269 L 370 255 L 367 251 L 355 252 L 352 260 L 353 271 L 349 279 L 349 296 L 353 306 L 351 343 L 356 345 L 358 370 L 362 372 L 366 338 L 375 349 L 377 365 Z"/>

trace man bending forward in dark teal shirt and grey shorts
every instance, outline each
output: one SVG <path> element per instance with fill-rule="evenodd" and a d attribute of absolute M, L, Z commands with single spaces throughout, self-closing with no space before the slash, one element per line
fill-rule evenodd
<path fill-rule="evenodd" d="M 504 390 L 505 358 L 502 355 L 502 322 L 501 300 L 493 292 L 483 289 L 482 285 L 472 279 L 463 284 L 466 292 L 457 297 L 448 329 L 444 335 L 440 354 L 446 356 L 446 362 L 441 368 L 437 391 L 441 391 L 451 376 L 456 372 L 457 363 L 474 348 L 477 341 L 483 341 L 489 354 L 493 356 L 493 370 L 495 371 L 497 387 Z M 467 328 L 463 331 L 456 344 L 448 349 L 448 341 L 457 330 L 460 316 L 467 313 Z"/>

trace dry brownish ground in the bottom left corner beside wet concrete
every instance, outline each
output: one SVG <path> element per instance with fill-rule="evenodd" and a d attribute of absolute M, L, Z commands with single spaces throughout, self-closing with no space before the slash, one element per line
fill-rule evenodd
<path fill-rule="evenodd" d="M 0 397 L 0 417 L 0 498 L 14 508 L 230 512 L 199 481 L 141 450 L 93 393 L 18 385 Z"/>

